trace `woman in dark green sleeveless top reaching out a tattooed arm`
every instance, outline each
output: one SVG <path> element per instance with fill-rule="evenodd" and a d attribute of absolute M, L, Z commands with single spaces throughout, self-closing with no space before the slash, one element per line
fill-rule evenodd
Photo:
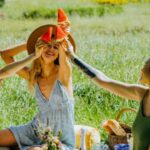
<path fill-rule="evenodd" d="M 68 44 L 70 44 L 68 42 Z M 72 48 L 68 53 L 72 62 L 100 87 L 123 98 L 140 101 L 140 108 L 133 124 L 133 150 L 150 149 L 150 89 L 139 84 L 128 84 L 107 77 L 77 57 Z M 141 70 L 140 82 L 150 86 L 150 58 Z"/>

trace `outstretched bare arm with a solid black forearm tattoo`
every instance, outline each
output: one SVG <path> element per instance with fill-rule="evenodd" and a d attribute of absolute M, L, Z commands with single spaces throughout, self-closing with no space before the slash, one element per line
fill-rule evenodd
<path fill-rule="evenodd" d="M 71 61 L 80 68 L 88 77 L 95 81 L 99 86 L 119 95 L 123 98 L 131 100 L 141 100 L 148 90 L 147 87 L 138 84 L 128 84 L 120 81 L 113 80 L 107 77 L 101 71 L 93 68 L 92 66 L 79 59 L 73 52 L 69 52 Z"/>

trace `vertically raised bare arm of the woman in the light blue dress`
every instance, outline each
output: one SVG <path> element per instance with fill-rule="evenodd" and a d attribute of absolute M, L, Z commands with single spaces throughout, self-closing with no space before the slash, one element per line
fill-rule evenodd
<path fill-rule="evenodd" d="M 73 97 L 72 90 L 72 69 L 64 48 L 59 46 L 59 76 L 58 79 L 66 87 L 68 94 Z"/>

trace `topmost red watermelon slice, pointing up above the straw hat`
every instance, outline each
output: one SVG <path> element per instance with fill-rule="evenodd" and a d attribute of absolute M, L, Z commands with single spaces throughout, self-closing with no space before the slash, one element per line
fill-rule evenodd
<path fill-rule="evenodd" d="M 70 21 L 65 14 L 64 10 L 59 8 L 58 9 L 58 25 L 62 28 L 62 30 L 69 34 L 70 33 Z"/>

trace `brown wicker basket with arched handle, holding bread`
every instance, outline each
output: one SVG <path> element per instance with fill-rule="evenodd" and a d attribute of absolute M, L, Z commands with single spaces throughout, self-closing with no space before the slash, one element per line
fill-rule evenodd
<path fill-rule="evenodd" d="M 119 121 L 120 116 L 124 112 L 128 112 L 128 111 L 136 113 L 136 110 L 133 108 L 123 108 L 120 110 L 120 112 L 116 116 L 116 121 Z M 128 139 L 128 137 L 131 136 L 131 127 L 129 127 L 126 124 L 122 124 L 122 123 L 120 123 L 120 125 L 126 131 L 127 135 L 126 136 L 117 136 L 117 135 L 110 134 L 108 137 L 108 143 L 109 143 L 109 147 L 111 150 L 114 150 L 114 145 L 116 145 L 116 144 L 121 144 L 121 143 L 127 144 L 128 143 L 127 139 Z"/>

